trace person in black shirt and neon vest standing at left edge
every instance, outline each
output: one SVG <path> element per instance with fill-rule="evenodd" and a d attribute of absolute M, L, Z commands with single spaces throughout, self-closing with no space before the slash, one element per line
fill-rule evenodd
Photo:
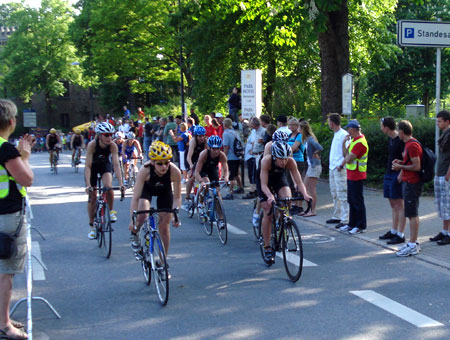
<path fill-rule="evenodd" d="M 17 108 L 9 100 L 0 100 L 0 166 L 2 198 L 0 199 L 0 231 L 13 237 L 17 253 L 0 260 L 0 330 L 5 339 L 27 339 L 23 324 L 9 317 L 13 278 L 23 272 L 26 244 L 24 216 L 25 187 L 33 183 L 33 172 L 28 164 L 33 137 L 25 135 L 14 147 L 8 142 L 16 127 Z M 6 176 L 7 175 L 7 176 Z M 5 189 L 6 188 L 6 189 Z"/>

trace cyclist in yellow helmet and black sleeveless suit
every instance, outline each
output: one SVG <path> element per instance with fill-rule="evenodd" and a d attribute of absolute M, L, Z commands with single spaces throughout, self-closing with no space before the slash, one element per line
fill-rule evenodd
<path fill-rule="evenodd" d="M 178 209 L 181 205 L 181 172 L 178 167 L 171 163 L 172 148 L 160 141 L 150 145 L 146 162 L 138 172 L 133 198 L 131 199 L 130 214 L 133 211 L 149 210 L 152 197 L 156 196 L 157 209 Z M 173 185 L 173 190 L 172 190 Z M 130 243 L 135 252 L 139 251 L 139 229 L 147 219 L 147 214 L 137 216 L 136 226 L 130 222 Z M 159 213 L 158 229 L 161 235 L 164 249 L 167 253 L 170 245 L 170 221 L 172 214 Z M 180 226 L 180 221 L 174 222 L 173 226 Z"/>

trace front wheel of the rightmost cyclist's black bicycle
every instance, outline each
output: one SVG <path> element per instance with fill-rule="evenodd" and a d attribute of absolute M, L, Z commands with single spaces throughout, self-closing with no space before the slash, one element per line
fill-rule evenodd
<path fill-rule="evenodd" d="M 302 237 L 295 221 L 288 221 L 283 228 L 281 247 L 283 250 L 284 268 L 289 279 L 298 281 L 303 269 Z"/>

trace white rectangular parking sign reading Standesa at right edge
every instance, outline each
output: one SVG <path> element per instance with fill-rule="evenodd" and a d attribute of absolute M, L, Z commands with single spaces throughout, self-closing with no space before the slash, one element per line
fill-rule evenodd
<path fill-rule="evenodd" d="M 450 47 L 450 22 L 400 20 L 397 42 L 400 46 Z"/>

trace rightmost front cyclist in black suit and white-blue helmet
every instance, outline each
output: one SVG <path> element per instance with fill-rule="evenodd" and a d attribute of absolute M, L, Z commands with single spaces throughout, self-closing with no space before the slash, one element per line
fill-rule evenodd
<path fill-rule="evenodd" d="M 271 229 L 271 208 L 275 201 L 274 193 L 279 198 L 291 196 L 291 189 L 287 181 L 287 171 L 296 184 L 297 191 L 303 194 L 305 200 L 310 200 L 311 196 L 306 192 L 297 164 L 292 158 L 292 149 L 286 142 L 273 142 L 271 155 L 264 156 L 261 160 L 261 166 L 257 169 L 257 177 L 260 181 L 257 183 L 258 196 L 261 201 L 261 207 L 264 210 L 262 220 L 262 232 L 264 238 L 264 258 L 270 263 L 273 261 L 274 253 L 270 246 Z"/>

